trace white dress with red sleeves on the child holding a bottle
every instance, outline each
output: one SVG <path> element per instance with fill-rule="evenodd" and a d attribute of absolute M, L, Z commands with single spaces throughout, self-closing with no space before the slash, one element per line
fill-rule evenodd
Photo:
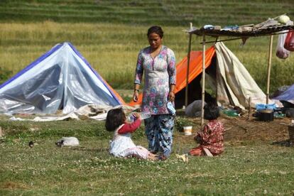
<path fill-rule="evenodd" d="M 136 131 L 141 125 L 141 120 L 136 119 L 131 124 L 122 124 L 114 131 L 114 138 L 110 142 L 109 152 L 116 157 L 130 157 L 147 159 L 149 151 L 142 147 L 136 146 L 131 140 L 131 133 Z"/>

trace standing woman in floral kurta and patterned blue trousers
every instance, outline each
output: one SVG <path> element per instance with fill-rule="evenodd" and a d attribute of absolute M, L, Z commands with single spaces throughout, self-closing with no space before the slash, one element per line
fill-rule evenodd
<path fill-rule="evenodd" d="M 138 53 L 136 65 L 134 102 L 144 73 L 142 111 L 149 111 L 151 118 L 145 119 L 148 150 L 163 153 L 160 158 L 170 156 L 173 144 L 173 116 L 168 112 L 168 101 L 175 99 L 175 55 L 173 50 L 162 45 L 163 30 L 152 26 L 147 32 L 149 45 Z"/>

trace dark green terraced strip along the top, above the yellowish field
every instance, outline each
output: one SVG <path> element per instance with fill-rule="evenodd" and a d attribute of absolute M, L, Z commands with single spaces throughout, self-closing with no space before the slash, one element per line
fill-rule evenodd
<path fill-rule="evenodd" d="M 283 13 L 293 16 L 292 6 L 291 0 L 2 0 L 0 21 L 226 26 L 256 23 Z"/>

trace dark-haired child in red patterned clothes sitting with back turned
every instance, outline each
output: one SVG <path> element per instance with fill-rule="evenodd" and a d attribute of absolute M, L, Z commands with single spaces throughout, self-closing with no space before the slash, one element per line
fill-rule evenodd
<path fill-rule="evenodd" d="M 195 136 L 195 141 L 200 143 L 197 148 L 190 150 L 192 156 L 217 156 L 224 151 L 224 125 L 217 121 L 219 108 L 217 104 L 205 105 L 204 118 L 209 120 L 202 131 Z"/>

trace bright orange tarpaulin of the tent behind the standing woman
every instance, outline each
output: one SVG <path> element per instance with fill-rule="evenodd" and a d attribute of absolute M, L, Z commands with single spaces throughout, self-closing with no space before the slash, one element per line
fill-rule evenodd
<path fill-rule="evenodd" d="M 214 46 L 210 47 L 205 51 L 205 68 L 209 67 L 212 61 L 212 57 L 215 53 Z M 175 94 L 181 89 L 186 87 L 186 77 L 187 77 L 187 57 L 183 58 L 178 65 L 176 65 L 177 70 L 177 84 L 175 85 Z M 190 53 L 190 67 L 189 67 L 189 80 L 192 82 L 198 75 L 202 73 L 202 51 L 192 51 Z M 143 94 L 139 94 L 138 102 L 131 101 L 130 106 L 141 105 Z"/>

